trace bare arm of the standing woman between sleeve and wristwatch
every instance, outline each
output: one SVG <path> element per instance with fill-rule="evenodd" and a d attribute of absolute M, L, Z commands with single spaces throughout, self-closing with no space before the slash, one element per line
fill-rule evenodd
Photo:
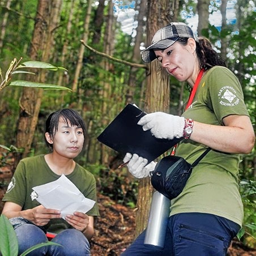
<path fill-rule="evenodd" d="M 222 152 L 250 153 L 255 143 L 250 118 L 231 115 L 223 118 L 223 123 L 216 126 L 194 121 L 190 139 Z"/>

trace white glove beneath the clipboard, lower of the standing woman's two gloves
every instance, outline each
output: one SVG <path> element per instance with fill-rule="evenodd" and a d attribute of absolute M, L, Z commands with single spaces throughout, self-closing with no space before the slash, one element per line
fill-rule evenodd
<path fill-rule="evenodd" d="M 149 176 L 150 172 L 152 172 L 156 167 L 156 163 L 154 161 L 147 164 L 148 160 L 138 156 L 137 154 L 131 155 L 131 153 L 126 153 L 123 158 L 123 162 L 126 163 L 127 161 L 129 161 L 127 164 L 129 172 L 136 178 L 145 178 Z"/>

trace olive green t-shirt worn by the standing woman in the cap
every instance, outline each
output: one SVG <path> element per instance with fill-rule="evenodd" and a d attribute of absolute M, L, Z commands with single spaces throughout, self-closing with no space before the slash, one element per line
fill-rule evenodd
<path fill-rule="evenodd" d="M 242 88 L 236 76 L 225 67 L 215 66 L 200 81 L 193 103 L 183 116 L 210 125 L 223 125 L 230 115 L 248 116 Z M 176 156 L 190 164 L 206 146 L 182 140 Z M 240 156 L 211 150 L 193 169 L 182 193 L 172 200 L 170 215 L 202 212 L 225 217 L 242 225 L 243 206 L 238 191 Z"/>

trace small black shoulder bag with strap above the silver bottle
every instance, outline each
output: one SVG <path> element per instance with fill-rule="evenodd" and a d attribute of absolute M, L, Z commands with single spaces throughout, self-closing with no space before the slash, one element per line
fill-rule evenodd
<path fill-rule="evenodd" d="M 210 150 L 211 148 L 207 148 L 193 164 L 187 163 L 187 161 L 180 156 L 163 157 L 163 159 L 157 163 L 155 170 L 150 173 L 152 186 L 170 200 L 176 198 L 184 189 L 195 165 L 197 165 Z"/>

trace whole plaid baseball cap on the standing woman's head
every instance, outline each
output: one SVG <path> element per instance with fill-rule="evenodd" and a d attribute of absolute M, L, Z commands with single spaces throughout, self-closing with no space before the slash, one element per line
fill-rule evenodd
<path fill-rule="evenodd" d="M 183 22 L 172 22 L 163 28 L 160 28 L 153 36 L 152 44 L 141 52 L 142 60 L 146 63 L 153 61 L 156 54 L 153 49 L 166 49 L 180 37 L 193 37 L 198 41 L 192 29 Z"/>

